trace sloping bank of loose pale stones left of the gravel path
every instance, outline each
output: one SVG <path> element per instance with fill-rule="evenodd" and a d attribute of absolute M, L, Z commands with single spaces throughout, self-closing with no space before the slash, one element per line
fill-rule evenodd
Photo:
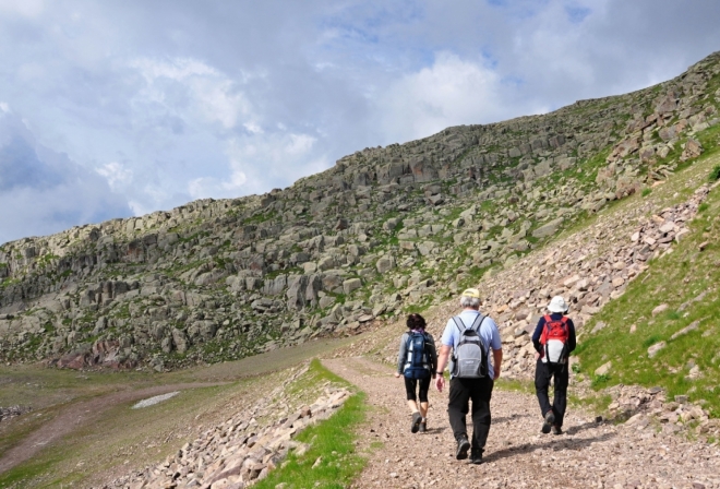
<path fill-rule="evenodd" d="M 348 390 L 326 384 L 314 403 L 291 410 L 293 403 L 286 389 L 307 370 L 298 369 L 248 412 L 204 431 L 159 465 L 97 489 L 241 489 L 263 479 L 290 451 L 302 454 L 308 450 L 307 444 L 293 440 L 298 432 L 327 419 L 350 396 Z"/>

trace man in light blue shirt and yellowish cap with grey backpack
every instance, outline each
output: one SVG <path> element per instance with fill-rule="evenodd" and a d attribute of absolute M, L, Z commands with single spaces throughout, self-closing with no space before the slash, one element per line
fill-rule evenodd
<path fill-rule="evenodd" d="M 455 457 L 465 460 L 468 457 L 468 450 L 472 449 L 470 451 L 470 463 L 481 464 L 482 452 L 488 441 L 492 420 L 490 416 L 490 397 L 492 396 L 494 381 L 500 377 L 503 345 L 495 322 L 491 318 L 480 314 L 480 291 L 477 288 L 469 288 L 463 293 L 460 306 L 463 312 L 447 321 L 443 332 L 442 346 L 437 356 L 435 386 L 439 391 L 442 391 L 445 385 L 443 369 L 447 365 L 452 350 L 453 361 L 451 361 L 447 414 L 457 442 Z M 472 337 L 470 337 L 470 334 Z M 473 367 L 473 373 L 468 373 L 463 367 L 464 365 L 477 365 L 477 361 L 470 356 L 468 356 L 467 361 L 460 357 L 460 350 L 466 351 L 464 349 L 466 346 L 482 353 L 481 367 L 479 369 Z M 491 350 L 492 355 L 490 355 Z M 456 359 L 463 361 L 457 362 Z M 466 416 L 470 410 L 470 401 L 472 401 L 471 443 L 468 440 L 466 424 Z"/>

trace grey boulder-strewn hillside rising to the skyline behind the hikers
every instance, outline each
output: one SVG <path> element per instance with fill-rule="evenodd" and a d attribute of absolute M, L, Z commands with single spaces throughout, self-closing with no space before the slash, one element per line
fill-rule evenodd
<path fill-rule="evenodd" d="M 439 303 L 717 144 L 700 135 L 718 122 L 719 73 L 715 53 L 632 94 L 365 148 L 265 195 L 5 243 L 0 357 L 163 370 L 356 334 Z M 653 243 L 638 236 L 628 275 L 681 231 L 660 226 Z M 593 308 L 622 270 L 566 287 Z"/>

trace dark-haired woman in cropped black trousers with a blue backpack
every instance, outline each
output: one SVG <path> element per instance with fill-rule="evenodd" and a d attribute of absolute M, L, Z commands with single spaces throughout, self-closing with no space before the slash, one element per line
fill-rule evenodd
<path fill-rule="evenodd" d="M 435 378 L 437 353 L 435 339 L 425 331 L 427 323 L 422 315 L 410 314 L 407 325 L 409 331 L 400 338 L 395 377 L 405 378 L 408 407 L 412 412 L 410 431 L 417 433 L 428 429 L 428 391 L 430 379 Z M 417 395 L 416 390 L 419 391 Z M 420 397 L 419 406 L 418 397 Z"/>

